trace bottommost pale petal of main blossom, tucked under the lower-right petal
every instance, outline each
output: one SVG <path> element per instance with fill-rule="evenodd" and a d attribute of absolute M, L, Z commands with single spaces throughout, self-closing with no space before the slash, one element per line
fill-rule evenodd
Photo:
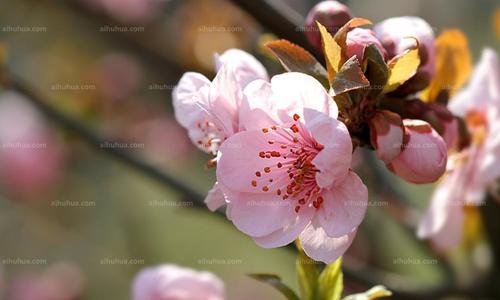
<path fill-rule="evenodd" d="M 347 248 L 351 246 L 355 236 L 356 229 L 348 235 L 331 238 L 326 235 L 321 226 L 310 224 L 300 234 L 299 238 L 307 256 L 329 264 L 344 254 Z"/>

